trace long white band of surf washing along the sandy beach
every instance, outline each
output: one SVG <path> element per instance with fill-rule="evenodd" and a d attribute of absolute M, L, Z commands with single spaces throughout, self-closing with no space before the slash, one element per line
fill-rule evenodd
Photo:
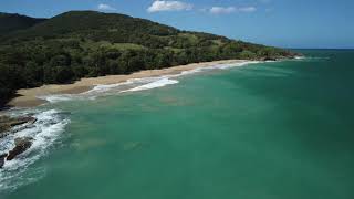
<path fill-rule="evenodd" d="M 257 61 L 248 61 L 242 63 L 231 63 L 231 64 L 216 64 L 210 66 L 197 67 L 189 71 L 183 71 L 179 74 L 164 75 L 157 77 L 144 77 L 144 78 L 131 78 L 126 82 L 108 85 L 96 85 L 92 90 L 81 93 L 81 94 L 62 94 L 62 95 L 48 95 L 39 96 L 39 98 L 45 100 L 50 103 L 58 103 L 72 100 L 94 100 L 97 96 L 112 95 L 126 92 L 145 91 L 157 87 L 163 87 L 166 85 L 177 84 L 176 78 L 185 75 L 191 75 L 195 73 L 211 71 L 211 70 L 227 70 L 236 66 L 244 66 L 247 64 L 260 63 Z"/>

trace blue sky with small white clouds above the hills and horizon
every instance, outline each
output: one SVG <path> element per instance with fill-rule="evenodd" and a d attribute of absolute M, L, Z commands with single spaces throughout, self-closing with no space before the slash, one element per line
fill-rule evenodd
<path fill-rule="evenodd" d="M 0 11 L 50 18 L 119 12 L 183 30 L 282 48 L 354 48 L 354 0 L 0 0 Z"/>

